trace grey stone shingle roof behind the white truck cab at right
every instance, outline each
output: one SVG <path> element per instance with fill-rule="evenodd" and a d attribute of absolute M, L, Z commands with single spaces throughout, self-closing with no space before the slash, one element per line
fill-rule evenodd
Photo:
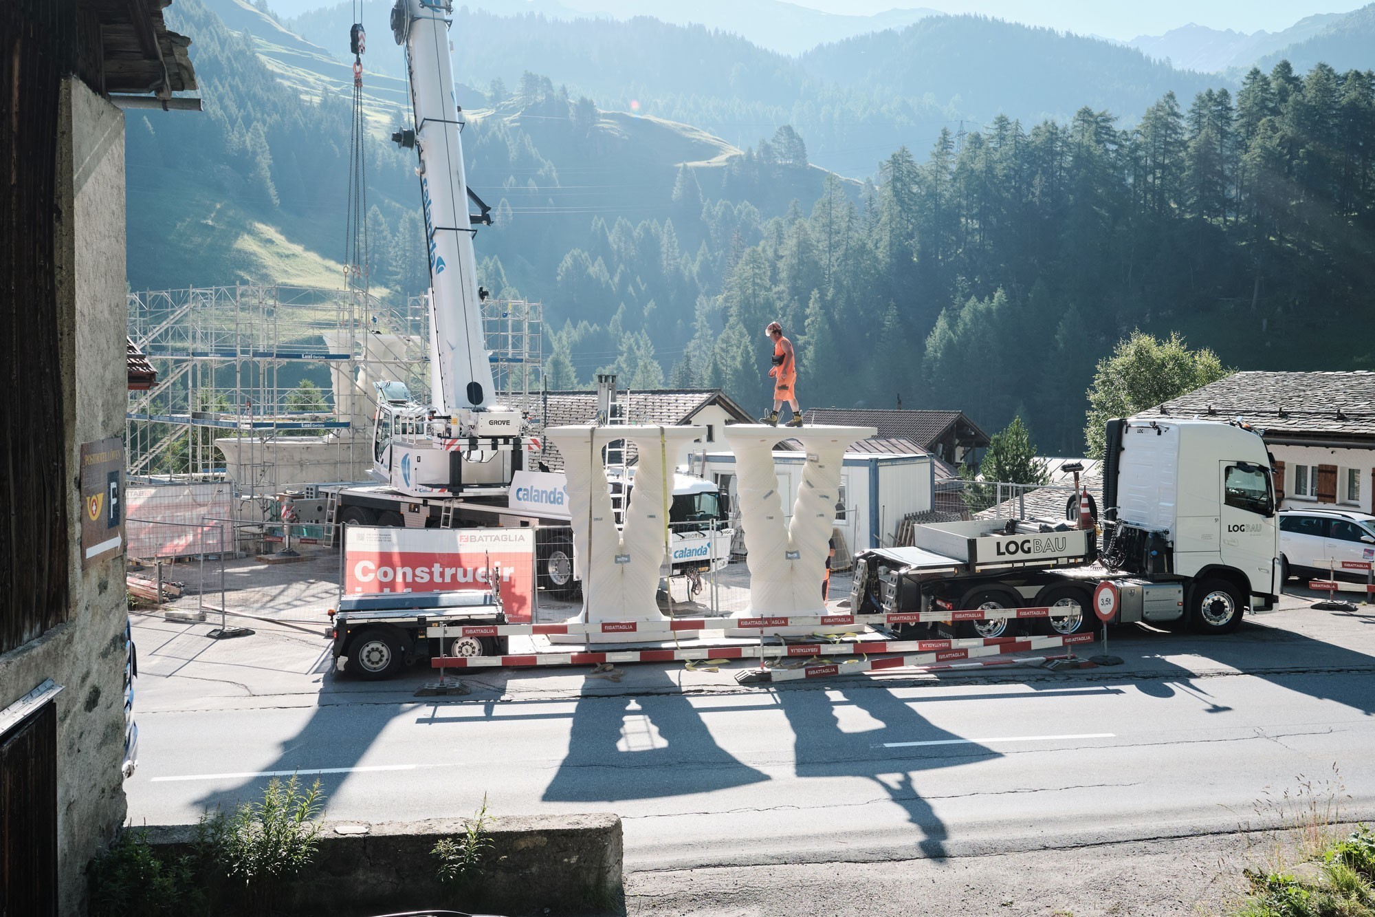
<path fill-rule="evenodd" d="M 1375 441 L 1375 372 L 1244 372 L 1140 412 L 1147 417 L 1240 417 L 1265 436 Z"/>

